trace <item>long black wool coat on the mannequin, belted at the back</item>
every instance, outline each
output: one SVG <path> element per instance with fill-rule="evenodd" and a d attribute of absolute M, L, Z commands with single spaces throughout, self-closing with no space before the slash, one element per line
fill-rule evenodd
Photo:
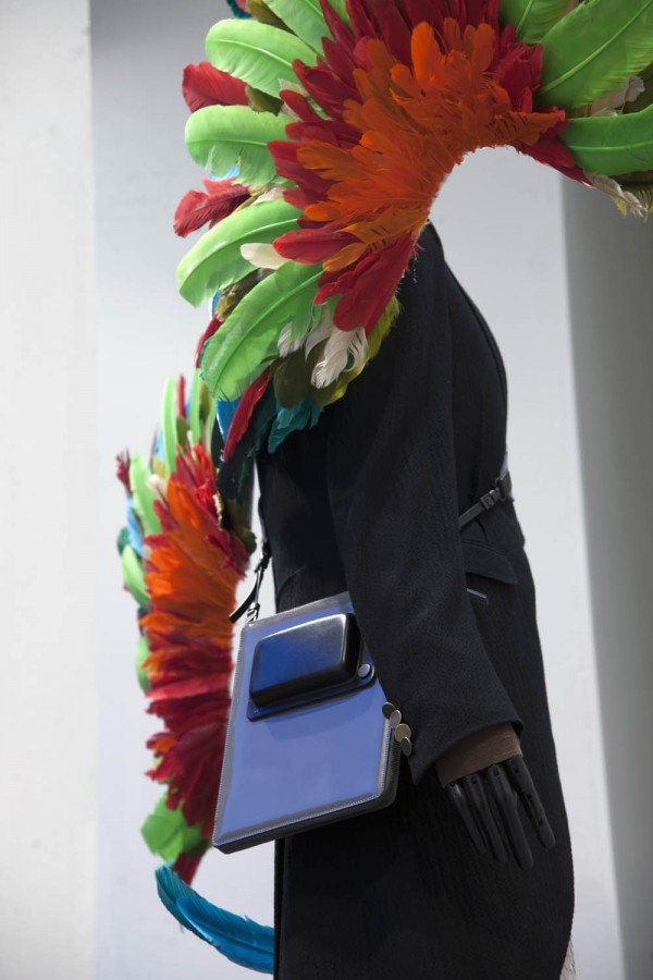
<path fill-rule="evenodd" d="M 399 299 L 345 397 L 257 460 L 278 610 L 348 589 L 414 736 L 392 806 L 275 844 L 274 976 L 558 980 L 571 852 L 523 536 L 513 503 L 457 524 L 500 474 L 504 367 L 432 225 Z M 521 734 L 557 841 L 545 853 L 527 828 L 527 872 L 472 849 L 433 767 L 500 722 Z"/>

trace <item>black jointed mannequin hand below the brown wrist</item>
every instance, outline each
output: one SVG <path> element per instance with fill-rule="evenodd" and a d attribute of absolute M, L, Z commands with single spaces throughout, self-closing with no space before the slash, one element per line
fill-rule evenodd
<path fill-rule="evenodd" d="M 542 847 L 554 846 L 553 831 L 521 756 L 455 780 L 444 789 L 480 854 L 490 852 L 501 863 L 514 859 L 525 870 L 532 868 L 523 812 Z"/>

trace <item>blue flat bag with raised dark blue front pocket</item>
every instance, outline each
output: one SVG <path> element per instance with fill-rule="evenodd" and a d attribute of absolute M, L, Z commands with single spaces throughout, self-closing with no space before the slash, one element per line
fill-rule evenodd
<path fill-rule="evenodd" d="M 230 853 L 389 806 L 401 748 L 348 592 L 244 626 L 213 844 Z"/>

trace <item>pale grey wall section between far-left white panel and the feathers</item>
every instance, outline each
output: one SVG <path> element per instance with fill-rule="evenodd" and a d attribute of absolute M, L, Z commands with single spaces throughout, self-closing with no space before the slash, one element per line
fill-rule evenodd
<path fill-rule="evenodd" d="M 145 742 L 157 722 L 145 714 L 132 666 L 135 603 L 121 591 L 115 537 L 124 523 L 124 492 L 113 464 L 124 446 L 149 450 L 163 381 L 190 373 L 209 319 L 176 293 L 175 268 L 188 244 L 175 238 L 172 217 L 202 176 L 184 146 L 182 70 L 204 58 L 205 35 L 224 11 L 226 4 L 213 0 L 91 4 L 102 512 L 96 980 L 246 976 L 176 927 L 156 893 L 161 861 L 140 837 L 161 795 L 144 775 L 150 765 Z M 194 884 L 209 899 L 272 923 L 271 847 L 212 852 Z"/>

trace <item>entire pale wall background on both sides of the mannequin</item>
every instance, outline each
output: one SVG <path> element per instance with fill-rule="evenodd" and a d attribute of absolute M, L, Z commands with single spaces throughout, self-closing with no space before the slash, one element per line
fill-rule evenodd
<path fill-rule="evenodd" d="M 83 0 L 0 8 L 3 980 L 245 976 L 176 929 L 139 838 L 158 789 L 143 776 L 153 728 L 113 473 L 120 449 L 148 449 L 163 381 L 189 372 L 205 326 L 174 286 L 186 246 L 172 215 L 200 179 L 178 85 L 223 13 L 218 0 L 98 0 L 91 59 Z M 432 217 L 506 360 L 579 977 L 650 980 L 652 230 L 562 184 L 512 151 L 478 154 Z M 211 854 L 196 883 L 272 921 L 271 848 Z"/>

